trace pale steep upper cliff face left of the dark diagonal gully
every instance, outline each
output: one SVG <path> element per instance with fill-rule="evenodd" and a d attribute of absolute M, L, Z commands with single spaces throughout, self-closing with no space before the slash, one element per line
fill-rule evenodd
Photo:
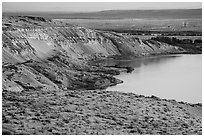
<path fill-rule="evenodd" d="M 6 31 L 3 33 L 3 39 L 4 50 L 22 62 L 45 59 L 57 52 L 63 52 L 73 59 L 85 59 L 90 55 L 120 54 L 111 40 L 80 27 Z"/>

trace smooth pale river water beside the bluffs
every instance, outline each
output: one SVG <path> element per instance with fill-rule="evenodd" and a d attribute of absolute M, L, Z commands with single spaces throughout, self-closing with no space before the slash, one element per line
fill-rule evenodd
<path fill-rule="evenodd" d="M 124 81 L 111 91 L 155 95 L 189 103 L 202 102 L 202 55 L 173 55 L 135 59 L 106 60 L 105 65 L 134 67 L 132 73 L 121 73 L 116 78 Z"/>

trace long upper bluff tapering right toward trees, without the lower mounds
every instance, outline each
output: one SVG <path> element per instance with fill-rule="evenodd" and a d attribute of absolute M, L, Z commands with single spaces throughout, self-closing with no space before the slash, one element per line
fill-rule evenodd
<path fill-rule="evenodd" d="M 113 32 L 101 32 L 58 22 L 49 23 L 41 21 L 42 19 L 38 17 L 24 17 L 24 20 L 28 20 L 29 23 L 20 20 L 21 16 L 17 19 L 10 27 L 15 27 L 15 30 L 3 31 L 3 48 L 13 54 L 9 56 L 22 61 L 46 58 L 57 52 L 64 52 L 75 59 L 89 59 L 94 55 L 136 57 L 182 51 L 175 46 L 154 40 L 142 41 Z M 7 21 L 11 22 L 12 18 Z M 41 25 L 34 25 L 34 21 L 40 22 Z M 6 21 L 3 22 L 3 26 L 5 24 L 7 24 Z M 17 24 L 30 25 L 30 28 L 20 28 Z"/>

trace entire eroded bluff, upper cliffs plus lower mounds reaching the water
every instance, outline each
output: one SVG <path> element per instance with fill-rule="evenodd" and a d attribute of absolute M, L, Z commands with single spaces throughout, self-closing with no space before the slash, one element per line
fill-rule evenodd
<path fill-rule="evenodd" d="M 107 57 L 182 53 L 154 40 L 121 36 L 32 17 L 4 17 L 3 90 L 97 89 L 120 83 L 114 68 L 90 66 Z"/>

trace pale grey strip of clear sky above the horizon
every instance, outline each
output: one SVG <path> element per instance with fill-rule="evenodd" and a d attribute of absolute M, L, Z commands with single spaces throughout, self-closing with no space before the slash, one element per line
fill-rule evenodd
<path fill-rule="evenodd" d="M 3 2 L 3 12 L 92 12 L 102 10 L 196 9 L 201 2 Z"/>

